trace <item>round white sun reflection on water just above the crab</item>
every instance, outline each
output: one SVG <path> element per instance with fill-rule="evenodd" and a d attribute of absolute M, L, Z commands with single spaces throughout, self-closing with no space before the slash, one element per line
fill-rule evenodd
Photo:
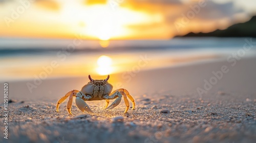
<path fill-rule="evenodd" d="M 112 59 L 108 56 L 102 55 L 97 60 L 97 73 L 99 75 L 108 75 L 111 74 L 113 71 L 112 67 Z"/>

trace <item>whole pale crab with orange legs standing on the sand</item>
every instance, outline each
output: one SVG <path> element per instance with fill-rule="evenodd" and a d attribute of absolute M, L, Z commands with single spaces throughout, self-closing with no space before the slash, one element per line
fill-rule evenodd
<path fill-rule="evenodd" d="M 133 103 L 132 109 L 135 108 L 134 98 L 130 95 L 130 93 L 126 89 L 120 88 L 111 92 L 113 89 L 113 86 L 110 83 L 108 83 L 110 75 L 108 75 L 108 77 L 104 80 L 94 80 L 91 78 L 90 75 L 88 77 L 90 81 L 82 87 L 81 91 L 71 90 L 58 101 L 56 105 L 57 112 L 59 112 L 59 105 L 63 101 L 65 101 L 68 97 L 69 97 L 69 101 L 68 101 L 67 108 L 68 108 L 69 114 L 72 114 L 71 105 L 73 102 L 73 97 L 76 97 L 76 100 L 75 100 L 76 106 L 82 112 L 87 111 L 87 112 L 93 113 L 91 108 L 87 105 L 86 101 L 105 100 L 106 101 L 105 109 L 113 109 L 121 102 L 122 97 L 126 105 L 126 109 L 124 113 L 128 111 L 130 106 L 130 103 L 127 100 L 127 97 Z M 113 100 L 113 99 L 115 99 L 115 101 L 108 107 L 110 100 Z"/>

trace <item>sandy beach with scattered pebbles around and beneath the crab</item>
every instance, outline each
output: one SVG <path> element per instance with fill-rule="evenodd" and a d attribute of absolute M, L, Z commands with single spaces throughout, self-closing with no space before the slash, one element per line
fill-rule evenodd
<path fill-rule="evenodd" d="M 226 66 L 225 70 L 222 70 L 223 66 Z M 225 73 L 219 72 L 216 77 L 213 72 L 217 71 Z M 5 110 L 2 102 L 0 127 L 3 133 L 0 140 L 254 142 L 255 73 L 256 58 L 247 57 L 238 60 L 234 66 L 226 60 L 212 60 L 143 70 L 133 75 L 129 82 L 121 74 L 113 74 L 109 82 L 114 89 L 126 88 L 136 101 L 135 110 L 129 109 L 126 114 L 123 114 L 123 101 L 112 110 L 104 110 L 104 101 L 87 102 L 94 113 L 82 113 L 73 102 L 73 115 L 68 114 L 66 101 L 57 113 L 57 100 L 69 90 L 80 90 L 89 81 L 87 75 L 46 79 L 32 93 L 27 83 L 33 81 L 12 81 L 9 82 L 8 139 L 3 136 Z M 210 85 L 205 86 L 207 81 Z"/>

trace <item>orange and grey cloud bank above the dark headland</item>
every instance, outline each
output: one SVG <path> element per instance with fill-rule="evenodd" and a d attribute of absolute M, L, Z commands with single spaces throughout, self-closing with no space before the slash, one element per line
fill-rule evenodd
<path fill-rule="evenodd" d="M 139 2 L 139 3 L 135 3 Z M 249 20 L 250 13 L 246 9 L 237 7 L 234 1 L 216 3 L 210 0 L 205 1 L 157 1 L 157 0 L 129 0 L 134 10 L 145 10 L 152 15 L 160 13 L 167 25 L 170 37 L 183 35 L 189 32 L 210 32 L 216 29 L 225 29 L 234 23 Z M 239 16 L 238 16 L 239 15 Z M 177 28 L 177 23 L 181 24 Z M 156 29 L 156 25 L 152 29 Z M 145 25 L 148 27 L 148 25 Z M 163 23 L 158 23 L 159 29 Z M 141 26 L 134 26 L 141 29 Z M 148 30 L 151 30 L 148 28 Z"/>

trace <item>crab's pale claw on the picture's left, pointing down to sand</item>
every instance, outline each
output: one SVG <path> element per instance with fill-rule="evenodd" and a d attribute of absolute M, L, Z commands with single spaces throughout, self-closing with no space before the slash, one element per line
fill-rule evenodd
<path fill-rule="evenodd" d="M 83 101 L 84 100 L 89 100 L 92 97 L 86 97 L 82 92 L 78 92 L 76 94 L 76 106 L 83 112 L 84 110 L 87 112 L 91 112 L 93 113 L 93 111 L 91 110 L 91 108 L 88 106 L 88 104 L 86 102 Z"/>

